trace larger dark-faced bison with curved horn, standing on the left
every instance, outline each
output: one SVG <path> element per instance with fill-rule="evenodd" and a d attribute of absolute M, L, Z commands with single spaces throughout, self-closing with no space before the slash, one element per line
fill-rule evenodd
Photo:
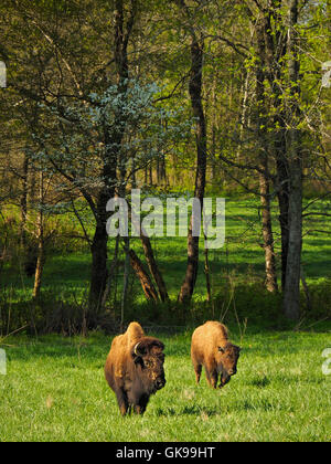
<path fill-rule="evenodd" d="M 149 397 L 164 387 L 164 345 L 146 337 L 138 323 L 114 338 L 105 366 L 106 380 L 115 391 L 122 415 L 134 407 L 143 414 Z"/>

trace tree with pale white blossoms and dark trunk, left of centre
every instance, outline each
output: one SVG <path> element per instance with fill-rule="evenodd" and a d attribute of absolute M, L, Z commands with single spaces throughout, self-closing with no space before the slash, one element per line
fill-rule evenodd
<path fill-rule="evenodd" d="M 85 229 L 92 252 L 94 315 L 100 312 L 108 276 L 107 202 L 125 196 L 132 176 L 160 154 L 164 156 L 164 147 L 172 150 L 190 129 L 190 123 L 179 122 L 180 110 L 156 103 L 159 92 L 156 84 L 127 80 L 104 93 L 75 101 L 62 97 L 42 107 L 44 123 L 34 134 L 40 146 L 35 161 L 60 175 L 57 188 L 71 198 L 84 198 L 94 217 L 92 238 Z"/>

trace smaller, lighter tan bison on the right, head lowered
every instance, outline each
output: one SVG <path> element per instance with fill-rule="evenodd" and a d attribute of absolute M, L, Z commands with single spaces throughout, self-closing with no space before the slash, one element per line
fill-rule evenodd
<path fill-rule="evenodd" d="M 216 320 L 209 320 L 197 327 L 192 335 L 191 359 L 196 383 L 200 381 L 202 366 L 209 383 L 224 387 L 237 371 L 241 348 L 228 341 L 227 328 Z"/>

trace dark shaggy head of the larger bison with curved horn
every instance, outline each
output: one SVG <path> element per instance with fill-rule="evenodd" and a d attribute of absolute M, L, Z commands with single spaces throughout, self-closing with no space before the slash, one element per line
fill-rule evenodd
<path fill-rule="evenodd" d="M 164 345 L 151 337 L 145 337 L 134 346 L 132 358 L 135 365 L 141 369 L 143 383 L 151 393 L 166 386 L 164 377 Z"/>

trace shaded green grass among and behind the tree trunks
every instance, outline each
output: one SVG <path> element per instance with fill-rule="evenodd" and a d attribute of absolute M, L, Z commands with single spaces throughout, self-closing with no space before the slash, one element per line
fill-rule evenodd
<path fill-rule="evenodd" d="M 323 201 L 316 202 L 313 211 L 324 211 L 328 205 Z M 279 270 L 280 234 L 277 208 L 273 213 Z M 66 221 L 66 226 L 70 224 L 74 231 L 79 231 L 74 218 L 66 217 L 63 221 Z M 201 251 L 193 303 L 184 315 L 178 310 L 174 302 L 185 272 L 186 239 L 151 239 L 172 303 L 159 306 L 147 304 L 139 282 L 135 275 L 131 275 L 125 320 L 139 317 L 146 324 L 183 325 L 188 320 L 195 324 L 206 318 L 224 317 L 225 321 L 234 318 L 243 321 L 248 318 L 260 324 L 268 319 L 271 325 L 275 323 L 275 327 L 278 327 L 278 316 L 281 316 L 281 295 L 270 295 L 264 288 L 259 202 L 254 198 L 226 199 L 225 233 L 224 246 L 220 250 L 210 250 L 209 253 L 213 300 L 206 302 L 204 255 Z M 303 233 L 302 267 L 308 283 L 310 304 L 308 305 L 307 294 L 302 289 L 302 314 L 305 317 L 320 320 L 331 315 L 331 221 L 321 215 L 309 217 L 305 220 Z M 66 250 L 65 252 L 49 250 L 42 283 L 42 299 L 36 309 L 31 307 L 33 277 L 25 276 L 19 265 L 20 260 L 14 260 L 2 270 L 0 308 L 2 317 L 7 313 L 7 323 L 10 318 L 13 321 L 15 314 L 24 315 L 33 312 L 34 321 L 38 321 L 44 312 L 52 316 L 54 313 L 82 310 L 87 300 L 90 254 L 84 244 L 73 245 L 73 243 L 76 242 L 68 241 L 68 246 L 62 245 L 61 250 Z M 109 240 L 109 264 L 114 255 L 114 244 L 115 240 Z M 131 246 L 145 261 L 140 241 L 131 239 Z M 120 318 L 124 261 L 124 252 L 120 251 L 117 276 L 108 302 L 108 314 L 114 324 Z M 75 315 L 72 317 L 75 318 Z M 9 326 L 18 328 L 20 324 L 24 325 L 24 317 Z"/>

